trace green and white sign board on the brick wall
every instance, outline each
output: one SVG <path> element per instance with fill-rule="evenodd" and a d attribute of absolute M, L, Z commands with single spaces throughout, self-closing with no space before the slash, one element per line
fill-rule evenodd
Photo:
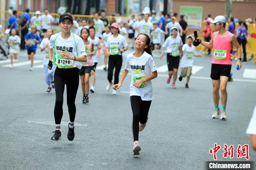
<path fill-rule="evenodd" d="M 202 24 L 196 21 L 202 21 L 203 7 L 180 6 L 180 15 L 184 15 L 186 20 L 192 21 L 188 22 L 189 28 L 201 28 Z"/>

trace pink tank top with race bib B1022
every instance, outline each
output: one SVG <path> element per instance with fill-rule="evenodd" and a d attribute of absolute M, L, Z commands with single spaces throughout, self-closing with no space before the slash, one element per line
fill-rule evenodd
<path fill-rule="evenodd" d="M 227 31 L 225 37 L 219 37 L 219 31 L 217 32 L 215 39 L 213 41 L 213 54 L 212 54 L 212 64 L 225 64 L 232 65 L 230 51 L 230 32 Z"/>

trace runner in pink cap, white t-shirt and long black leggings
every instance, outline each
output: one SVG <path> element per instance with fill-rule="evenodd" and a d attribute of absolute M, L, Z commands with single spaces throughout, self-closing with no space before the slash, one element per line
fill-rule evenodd
<path fill-rule="evenodd" d="M 122 53 L 128 49 L 128 44 L 123 35 L 119 34 L 118 24 L 111 24 L 111 31 L 113 35 L 109 36 L 106 43 L 106 53 L 109 56 L 109 65 L 108 65 L 108 85 L 106 90 L 108 91 L 112 86 L 113 71 L 115 68 L 114 74 L 114 84 L 118 83 L 119 73 L 123 63 Z M 116 91 L 113 90 L 112 94 L 116 94 Z"/>

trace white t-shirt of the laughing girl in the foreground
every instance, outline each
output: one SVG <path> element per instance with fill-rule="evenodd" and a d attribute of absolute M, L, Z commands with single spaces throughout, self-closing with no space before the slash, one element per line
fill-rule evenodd
<path fill-rule="evenodd" d="M 153 57 L 146 51 L 140 57 L 135 57 L 134 53 L 128 54 L 125 69 L 131 70 L 131 84 L 130 84 L 130 96 L 140 96 L 142 100 L 150 101 L 153 100 L 153 87 L 152 82 L 146 81 L 137 88 L 133 86 L 133 81 L 140 80 L 144 77 L 149 76 L 152 72 L 157 70 Z"/>

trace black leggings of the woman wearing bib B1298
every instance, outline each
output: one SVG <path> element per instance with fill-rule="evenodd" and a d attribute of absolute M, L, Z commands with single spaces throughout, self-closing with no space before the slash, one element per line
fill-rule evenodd
<path fill-rule="evenodd" d="M 74 122 L 76 116 L 76 93 L 79 85 L 79 72 L 78 68 L 73 69 L 60 69 L 56 68 L 54 73 L 54 84 L 55 84 L 55 107 L 54 107 L 54 119 L 56 124 L 60 124 L 63 116 L 63 93 L 65 84 L 67 85 L 67 104 L 69 119 Z"/>

